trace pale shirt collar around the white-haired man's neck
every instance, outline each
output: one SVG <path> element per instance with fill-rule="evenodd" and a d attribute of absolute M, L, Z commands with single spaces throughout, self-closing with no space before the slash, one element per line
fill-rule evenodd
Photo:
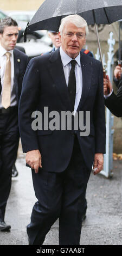
<path fill-rule="evenodd" d="M 72 60 L 72 58 L 70 58 L 66 54 L 66 52 L 63 51 L 61 46 L 60 46 L 60 55 L 61 55 L 61 60 L 62 60 L 63 66 L 66 66 Z M 80 52 L 79 52 L 78 56 L 75 58 L 75 60 L 79 64 L 79 66 L 81 66 L 81 63 L 80 63 Z"/>

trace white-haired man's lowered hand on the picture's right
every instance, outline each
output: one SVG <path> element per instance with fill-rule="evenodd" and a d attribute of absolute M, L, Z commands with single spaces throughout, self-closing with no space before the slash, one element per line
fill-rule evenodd
<path fill-rule="evenodd" d="M 104 155 L 102 153 L 96 153 L 94 155 L 94 175 L 97 173 L 100 173 L 101 170 L 103 169 L 103 164 L 104 164 Z"/>

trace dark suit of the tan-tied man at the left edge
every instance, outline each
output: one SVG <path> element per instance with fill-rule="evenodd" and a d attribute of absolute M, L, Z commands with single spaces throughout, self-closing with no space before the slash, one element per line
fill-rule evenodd
<path fill-rule="evenodd" d="M 22 81 L 28 57 L 14 49 L 14 88 L 18 101 L 21 95 Z M 10 193 L 12 166 L 16 160 L 18 142 L 18 107 L 0 109 L 0 220 L 4 220 L 5 207 Z"/>

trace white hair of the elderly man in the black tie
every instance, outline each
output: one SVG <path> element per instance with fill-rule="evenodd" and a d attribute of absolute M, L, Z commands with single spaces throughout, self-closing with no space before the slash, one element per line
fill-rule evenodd
<path fill-rule="evenodd" d="M 73 23 L 76 27 L 78 28 L 86 28 L 86 35 L 88 35 L 88 25 L 87 22 L 78 14 L 72 14 L 72 15 L 68 15 L 65 18 L 63 18 L 61 20 L 61 25 L 59 28 L 59 32 L 62 33 L 63 32 L 63 28 L 66 25 L 66 22 L 70 22 Z"/>

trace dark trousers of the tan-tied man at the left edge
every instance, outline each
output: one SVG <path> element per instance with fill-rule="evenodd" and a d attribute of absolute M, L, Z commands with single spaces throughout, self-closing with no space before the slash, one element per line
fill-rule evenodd
<path fill-rule="evenodd" d="M 11 188 L 12 166 L 19 142 L 18 109 L 0 113 L 0 220 L 4 221 L 5 208 Z"/>

